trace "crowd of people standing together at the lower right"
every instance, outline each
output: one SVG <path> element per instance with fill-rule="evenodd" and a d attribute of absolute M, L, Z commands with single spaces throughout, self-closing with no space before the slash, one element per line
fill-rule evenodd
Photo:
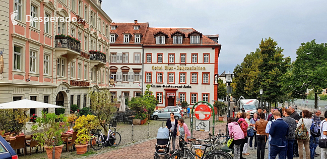
<path fill-rule="evenodd" d="M 244 156 L 250 155 L 247 149 L 253 149 L 253 146 L 257 159 L 264 159 L 267 141 L 269 159 L 275 159 L 277 155 L 279 159 L 313 159 L 319 155 L 326 159 L 327 148 L 321 148 L 321 154 L 316 153 L 316 148 L 319 138 L 327 138 L 327 112 L 321 121 L 318 109 L 313 114 L 303 110 L 301 117 L 295 110 L 296 107 L 291 105 L 288 109 L 271 109 L 268 114 L 267 110 L 258 108 L 253 118 L 245 112 L 238 112 L 234 118 L 233 113 L 233 118 L 228 119 L 228 130 L 234 139 L 234 159 L 245 159 Z"/>

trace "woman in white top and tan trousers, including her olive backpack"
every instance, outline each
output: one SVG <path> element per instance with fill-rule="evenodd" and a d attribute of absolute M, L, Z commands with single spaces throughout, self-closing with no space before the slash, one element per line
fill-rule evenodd
<path fill-rule="evenodd" d="M 299 148 L 299 159 L 303 159 L 303 145 L 305 148 L 305 158 L 309 159 L 310 158 L 310 148 L 309 148 L 309 143 L 310 143 L 310 127 L 312 124 L 311 118 L 311 113 L 308 110 L 303 110 L 302 111 L 302 117 L 299 122 L 297 123 L 296 130 L 295 130 L 295 139 L 298 142 L 298 148 Z M 301 135 L 301 139 L 297 137 L 299 132 L 299 129 L 301 128 L 306 128 L 307 132 L 306 136 Z M 302 130 L 303 130 L 302 129 Z"/>

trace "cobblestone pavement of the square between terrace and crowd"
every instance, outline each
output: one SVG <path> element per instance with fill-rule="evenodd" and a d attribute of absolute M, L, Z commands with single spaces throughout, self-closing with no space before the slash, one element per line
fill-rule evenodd
<path fill-rule="evenodd" d="M 210 120 L 212 121 L 212 120 Z M 226 116 L 225 122 L 215 123 L 215 134 L 218 133 L 219 129 L 226 133 Z M 156 135 L 159 127 L 162 126 L 162 122 L 165 120 L 150 121 L 150 137 L 147 137 L 148 125 L 134 126 L 134 140 L 132 141 L 132 126 L 127 124 L 118 124 L 116 131 L 121 135 L 121 142 L 118 147 L 102 147 L 98 151 L 89 151 L 85 155 L 77 155 L 76 151 L 73 152 L 62 152 L 61 158 L 153 158 L 155 152 Z M 194 121 L 195 122 L 195 121 Z M 185 119 L 185 123 L 190 129 L 190 119 Z M 210 122 L 212 124 L 212 122 Z M 193 128 L 193 137 L 206 139 L 208 138 L 209 132 L 195 131 Z M 212 133 L 212 128 L 210 129 Z M 253 141 L 254 142 L 254 141 Z M 268 143 L 266 145 L 268 147 Z M 316 152 L 320 153 L 320 148 L 317 147 Z M 29 153 L 29 150 L 27 151 Z M 250 155 L 244 156 L 247 159 L 256 158 L 256 149 L 248 149 Z M 47 158 L 46 153 L 33 153 L 32 155 L 19 155 L 19 158 Z M 268 158 L 268 149 L 265 151 L 265 158 Z M 315 158 L 320 158 L 315 157 Z"/>

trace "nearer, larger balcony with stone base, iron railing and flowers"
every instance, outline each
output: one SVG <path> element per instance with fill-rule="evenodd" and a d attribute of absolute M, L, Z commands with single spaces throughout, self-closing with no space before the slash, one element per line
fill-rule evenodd
<path fill-rule="evenodd" d="M 74 37 L 63 34 L 56 35 L 54 42 L 55 55 L 57 58 L 67 54 L 71 59 L 81 54 L 81 41 Z"/>

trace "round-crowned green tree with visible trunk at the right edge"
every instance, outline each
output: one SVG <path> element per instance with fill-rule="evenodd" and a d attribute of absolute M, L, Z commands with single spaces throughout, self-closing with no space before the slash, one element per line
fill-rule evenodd
<path fill-rule="evenodd" d="M 301 43 L 296 55 L 293 80 L 302 91 L 313 90 L 314 108 L 318 108 L 317 94 L 327 87 L 327 43 L 318 44 L 315 40 Z"/>

